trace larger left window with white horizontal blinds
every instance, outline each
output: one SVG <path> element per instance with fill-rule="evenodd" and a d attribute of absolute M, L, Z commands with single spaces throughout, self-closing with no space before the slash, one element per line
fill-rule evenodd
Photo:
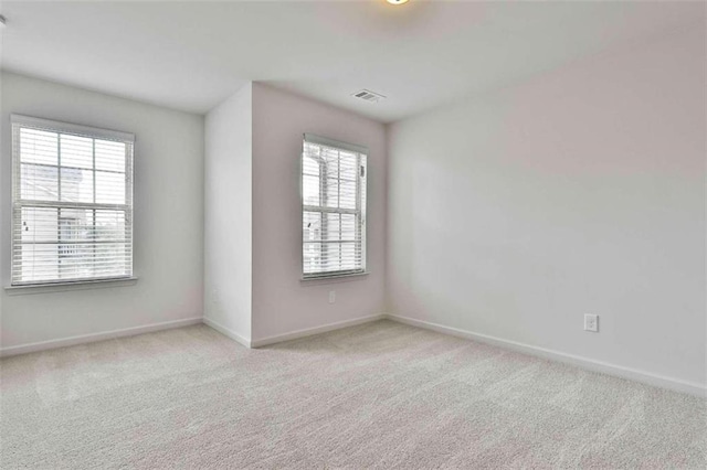
<path fill-rule="evenodd" d="M 131 133 L 13 115 L 13 286 L 133 276 Z"/>

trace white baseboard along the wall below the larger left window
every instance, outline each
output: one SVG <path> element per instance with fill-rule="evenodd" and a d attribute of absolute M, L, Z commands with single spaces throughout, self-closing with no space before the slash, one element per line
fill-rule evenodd
<path fill-rule="evenodd" d="M 59 340 L 40 341 L 36 343 L 20 344 L 0 349 L 0 357 L 27 354 L 38 351 L 54 350 L 57 348 L 74 346 L 84 343 L 95 343 L 96 341 L 112 340 L 115 338 L 134 337 L 136 334 L 152 333 L 155 331 L 171 330 L 173 328 L 189 327 L 202 322 L 201 317 L 186 318 L 182 320 L 165 321 L 151 323 L 143 327 L 124 328 L 120 330 L 104 331 L 101 333 L 81 334 L 77 337 L 62 338 Z"/>

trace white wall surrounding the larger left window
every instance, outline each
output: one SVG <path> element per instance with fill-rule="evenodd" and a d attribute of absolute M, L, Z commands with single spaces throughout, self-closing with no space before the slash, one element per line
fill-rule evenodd
<path fill-rule="evenodd" d="M 0 328 L 3 349 L 202 316 L 203 117 L 1 75 Z M 134 286 L 9 296 L 10 114 L 136 135 Z"/>

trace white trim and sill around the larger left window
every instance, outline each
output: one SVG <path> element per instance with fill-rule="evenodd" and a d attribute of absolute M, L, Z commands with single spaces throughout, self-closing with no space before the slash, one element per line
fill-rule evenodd
<path fill-rule="evenodd" d="M 88 277 L 88 278 L 75 278 L 75 279 L 52 279 L 40 281 L 27 281 L 15 282 L 13 279 L 13 265 L 14 265 L 14 223 L 15 223 L 15 205 L 19 204 L 17 195 L 20 188 L 20 170 L 21 156 L 19 148 L 19 136 L 15 136 L 15 126 L 18 129 L 22 127 L 53 131 L 57 133 L 68 133 L 73 136 L 86 137 L 99 140 L 119 141 L 130 145 L 130 157 L 126 158 L 126 173 L 129 172 L 130 184 L 126 189 L 125 204 L 118 204 L 120 206 L 129 207 L 130 215 L 130 273 L 124 276 L 105 276 L 105 277 Z M 18 130 L 19 132 L 19 130 Z M 51 292 L 62 290 L 77 290 L 93 287 L 112 287 L 112 286 L 125 286 L 134 285 L 137 281 L 135 276 L 135 135 L 130 132 L 117 131 L 112 129 L 104 129 L 92 126 L 84 126 L 78 124 L 59 121 L 53 119 L 44 119 L 32 116 L 25 116 L 20 114 L 10 115 L 10 137 L 11 137 L 11 184 L 10 184 L 10 285 L 6 286 L 7 292 L 11 293 L 39 293 Z M 95 169 L 94 169 L 95 171 Z M 95 186 L 94 186 L 95 192 Z M 53 206 L 51 203 L 56 202 L 61 205 L 83 207 L 85 203 L 71 203 L 61 201 L 38 201 L 42 206 Z M 115 209 L 116 204 L 101 204 L 92 203 L 94 209 Z"/>

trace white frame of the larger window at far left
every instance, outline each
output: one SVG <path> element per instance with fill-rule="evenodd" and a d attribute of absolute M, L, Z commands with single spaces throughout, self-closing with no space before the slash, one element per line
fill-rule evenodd
<path fill-rule="evenodd" d="M 91 126 L 83 126 L 70 122 L 63 122 L 51 119 L 36 118 L 31 116 L 23 116 L 12 114 L 10 115 L 11 132 L 12 132 L 12 222 L 11 222 L 11 236 L 10 236 L 10 286 L 6 287 L 9 290 L 23 290 L 24 288 L 49 288 L 48 291 L 52 291 L 54 287 L 71 288 L 75 286 L 80 288 L 82 285 L 86 287 L 108 287 L 110 285 L 129 285 L 137 278 L 134 276 L 135 264 L 135 244 L 134 244 L 134 149 L 135 149 L 135 135 L 129 132 L 122 132 L 116 130 L 103 129 Z M 74 203 L 65 201 L 32 201 L 21 199 L 21 154 L 20 154 L 20 129 L 31 128 L 38 130 L 45 130 L 50 132 L 65 133 L 72 136 L 86 137 L 99 140 L 110 140 L 125 143 L 125 175 L 126 175 L 126 194 L 125 204 L 110 204 L 110 203 Z M 61 158 L 61 157 L 60 157 Z M 59 169 L 61 169 L 61 162 L 59 162 Z M 95 171 L 95 167 L 94 167 Z M 61 170 L 57 175 L 61 179 Z M 94 186 L 95 191 L 95 186 Z M 120 210 L 126 214 L 126 239 L 129 241 L 129 267 L 128 271 L 122 276 L 95 276 L 83 278 L 67 278 L 55 280 L 39 280 L 39 281 L 18 281 L 15 280 L 15 224 L 20 223 L 22 209 L 25 206 L 32 207 L 51 207 L 51 209 L 83 209 L 83 210 Z M 21 269 L 21 268 L 20 268 Z"/>

